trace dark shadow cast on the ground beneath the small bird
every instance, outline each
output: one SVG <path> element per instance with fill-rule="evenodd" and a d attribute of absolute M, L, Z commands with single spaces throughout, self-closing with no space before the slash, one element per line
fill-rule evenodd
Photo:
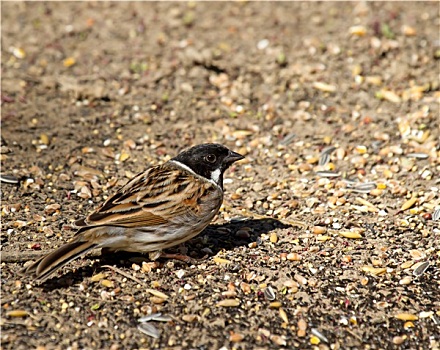
<path fill-rule="evenodd" d="M 218 252 L 225 250 L 233 250 L 236 247 L 248 246 L 252 242 L 258 242 L 262 234 L 267 234 L 275 229 L 286 229 L 292 225 L 285 224 L 279 220 L 272 218 L 264 219 L 244 219 L 231 220 L 224 224 L 209 225 L 197 237 L 185 243 L 187 253 L 194 259 L 209 259 Z M 167 249 L 166 253 L 182 253 L 181 247 Z M 142 261 L 151 261 L 148 254 L 129 253 L 129 252 L 113 252 L 101 255 L 87 257 L 99 259 L 92 266 L 80 267 L 78 270 L 70 271 L 53 277 L 45 281 L 41 287 L 46 291 L 64 288 L 80 282 L 85 277 L 91 277 L 93 274 L 104 270 L 104 265 L 114 265 L 119 268 L 131 268 L 135 262 L 141 264 Z M 166 261 L 159 259 L 159 261 Z M 185 265 L 184 262 L 176 261 Z"/>

